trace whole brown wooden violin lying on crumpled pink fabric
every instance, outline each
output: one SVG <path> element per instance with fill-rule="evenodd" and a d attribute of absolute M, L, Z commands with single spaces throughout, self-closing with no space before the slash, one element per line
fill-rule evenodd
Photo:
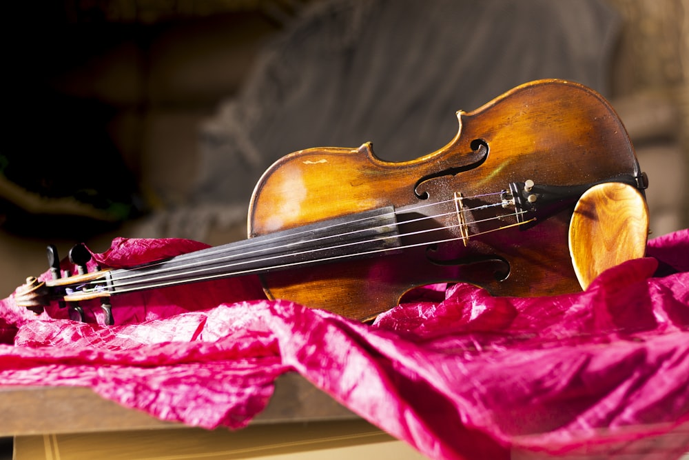
<path fill-rule="evenodd" d="M 61 273 L 53 254 L 53 279 L 29 279 L 17 303 L 78 310 L 88 299 L 258 274 L 271 299 L 367 321 L 418 286 L 464 282 L 517 297 L 577 292 L 606 264 L 643 255 L 648 182 L 600 94 L 533 81 L 460 110 L 457 120 L 446 146 L 410 161 L 382 161 L 371 143 L 287 154 L 254 189 L 247 239 L 90 273 Z M 618 201 L 632 204 L 621 212 Z M 620 259 L 629 219 L 640 222 L 639 249 Z M 598 234 L 608 235 L 601 250 Z M 613 258 L 595 266 L 601 254 Z"/>

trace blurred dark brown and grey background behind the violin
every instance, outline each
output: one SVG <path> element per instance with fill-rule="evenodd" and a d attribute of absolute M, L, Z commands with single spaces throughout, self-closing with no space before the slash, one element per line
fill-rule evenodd
<path fill-rule="evenodd" d="M 283 155 L 420 157 L 520 83 L 612 103 L 652 236 L 689 225 L 687 0 L 44 0 L 3 5 L 0 290 L 45 245 L 244 236 Z M 601 152 L 604 154 L 604 152 Z"/>

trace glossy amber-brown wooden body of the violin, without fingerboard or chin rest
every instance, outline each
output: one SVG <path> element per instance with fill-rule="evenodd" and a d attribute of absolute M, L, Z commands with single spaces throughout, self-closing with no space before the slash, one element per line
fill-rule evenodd
<path fill-rule="evenodd" d="M 621 174 L 643 188 L 633 146 L 613 108 L 584 86 L 546 80 L 519 86 L 473 112 L 457 112 L 457 119 L 454 139 L 415 160 L 382 161 L 365 143 L 358 149 L 301 150 L 269 168 L 251 198 L 249 237 L 383 206 L 393 206 L 398 216 L 409 209 L 407 219 L 413 220 L 419 206 L 438 201 L 433 212 L 423 209 L 440 217 L 422 226 L 443 228 L 438 240 L 454 241 L 269 272 L 261 275 L 266 293 L 368 319 L 397 305 L 411 288 L 443 281 L 474 283 L 498 296 L 581 290 L 568 250 L 574 203 L 526 229 L 493 231 L 494 219 L 482 222 L 492 217 L 481 219 L 485 213 L 479 211 L 470 213 L 464 228 L 457 226 L 452 197 L 469 197 L 464 201 L 475 209 L 491 204 L 495 192 L 513 182 L 577 186 Z M 485 156 L 475 154 L 477 143 L 487 147 Z M 487 232 L 464 239 L 466 228 Z"/>

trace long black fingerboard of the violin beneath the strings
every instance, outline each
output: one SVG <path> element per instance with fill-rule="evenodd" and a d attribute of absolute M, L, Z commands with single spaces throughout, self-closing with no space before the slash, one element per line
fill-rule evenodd
<path fill-rule="evenodd" d="M 112 294 L 161 288 L 373 257 L 400 244 L 395 210 L 389 206 L 112 270 L 107 284 Z"/>

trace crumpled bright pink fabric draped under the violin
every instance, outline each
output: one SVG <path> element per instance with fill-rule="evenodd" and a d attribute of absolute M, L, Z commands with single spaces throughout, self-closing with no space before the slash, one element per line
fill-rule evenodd
<path fill-rule="evenodd" d="M 95 257 L 122 267 L 204 247 L 116 239 Z M 97 305 L 76 323 L 2 301 L 0 383 L 88 386 L 161 419 L 241 428 L 296 371 L 433 459 L 688 450 L 689 230 L 586 292 L 429 286 L 373 325 L 268 301 L 251 277 L 112 300 L 115 326 L 99 326 Z"/>

